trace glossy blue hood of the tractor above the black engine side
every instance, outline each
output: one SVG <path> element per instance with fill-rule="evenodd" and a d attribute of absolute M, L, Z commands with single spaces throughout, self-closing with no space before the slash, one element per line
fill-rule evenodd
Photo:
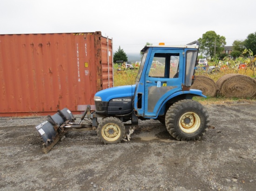
<path fill-rule="evenodd" d="M 103 89 L 97 92 L 95 96 L 101 97 L 102 102 L 109 102 L 114 98 L 134 96 L 135 87 L 136 84 Z"/>

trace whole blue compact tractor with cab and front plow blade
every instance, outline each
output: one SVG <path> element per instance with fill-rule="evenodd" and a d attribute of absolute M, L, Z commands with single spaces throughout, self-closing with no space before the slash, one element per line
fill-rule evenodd
<path fill-rule="evenodd" d="M 36 126 L 44 141 L 44 153 L 68 130 L 79 128 L 96 130 L 105 144 L 119 143 L 126 136 L 126 128 L 138 127 L 139 119 L 160 121 L 176 140 L 200 140 L 209 127 L 209 114 L 192 100 L 194 96 L 206 96 L 201 90 L 190 89 L 198 50 L 198 41 L 178 46 L 145 46 L 134 85 L 97 92 L 95 109 L 88 105 L 79 122 L 75 123 L 73 114 L 64 108 Z M 84 119 L 90 124 L 85 124 Z"/>

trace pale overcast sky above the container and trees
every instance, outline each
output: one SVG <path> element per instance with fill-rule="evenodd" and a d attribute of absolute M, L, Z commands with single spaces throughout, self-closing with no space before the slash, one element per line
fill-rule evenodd
<path fill-rule="evenodd" d="M 101 31 L 127 54 L 146 42 L 188 44 L 215 31 L 227 45 L 256 32 L 256 0 L 0 0 L 0 34 Z"/>

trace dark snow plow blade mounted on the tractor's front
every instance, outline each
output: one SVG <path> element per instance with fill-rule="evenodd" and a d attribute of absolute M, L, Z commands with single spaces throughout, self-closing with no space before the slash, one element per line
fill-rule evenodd
<path fill-rule="evenodd" d="M 51 148 L 67 133 L 64 129 L 69 122 L 74 122 L 74 115 L 67 109 L 58 109 L 54 115 L 48 115 L 47 120 L 35 128 L 40 133 L 44 143 L 43 152 L 48 153 Z"/>

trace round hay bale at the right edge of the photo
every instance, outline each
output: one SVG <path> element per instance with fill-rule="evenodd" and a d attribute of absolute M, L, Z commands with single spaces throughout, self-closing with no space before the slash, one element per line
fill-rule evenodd
<path fill-rule="evenodd" d="M 218 87 L 218 96 L 227 98 L 255 98 L 256 81 L 241 74 L 226 74 L 220 77 L 216 85 Z"/>

